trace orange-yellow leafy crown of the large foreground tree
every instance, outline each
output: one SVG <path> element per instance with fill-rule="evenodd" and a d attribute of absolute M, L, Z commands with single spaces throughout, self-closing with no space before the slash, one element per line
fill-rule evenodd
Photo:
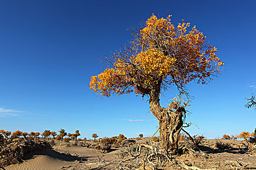
<path fill-rule="evenodd" d="M 145 89 L 156 85 L 177 85 L 182 88 L 191 81 L 206 84 L 220 72 L 223 62 L 216 56 L 217 49 L 207 44 L 206 36 L 190 23 L 175 27 L 171 16 L 147 19 L 123 53 L 113 54 L 110 68 L 91 77 L 90 89 L 102 96 L 135 92 L 149 94 Z"/>

